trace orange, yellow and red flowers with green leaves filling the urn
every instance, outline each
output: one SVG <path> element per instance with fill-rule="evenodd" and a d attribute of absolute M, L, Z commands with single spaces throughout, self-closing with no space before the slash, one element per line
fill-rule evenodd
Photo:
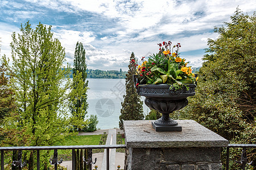
<path fill-rule="evenodd" d="M 170 88 L 178 90 L 184 84 L 196 82 L 191 67 L 184 58 L 180 58 L 180 43 L 172 45 L 171 41 L 159 43 L 159 52 L 148 58 L 142 57 L 142 65 L 137 66 L 139 84 L 171 84 Z M 132 61 L 135 62 L 135 61 Z"/>

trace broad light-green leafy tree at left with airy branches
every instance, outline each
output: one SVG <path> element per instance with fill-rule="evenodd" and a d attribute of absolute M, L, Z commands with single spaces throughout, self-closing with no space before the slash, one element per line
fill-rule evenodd
<path fill-rule="evenodd" d="M 66 101 L 67 78 L 64 48 L 53 38 L 51 26 L 39 23 L 35 29 L 27 22 L 20 33 L 13 33 L 9 66 L 18 108 L 17 129 L 25 129 L 30 146 L 49 146 L 69 135 Z M 7 63 L 7 58 L 3 58 Z M 63 69 L 64 68 L 64 69 Z M 67 83 L 63 83 L 67 82 Z"/>

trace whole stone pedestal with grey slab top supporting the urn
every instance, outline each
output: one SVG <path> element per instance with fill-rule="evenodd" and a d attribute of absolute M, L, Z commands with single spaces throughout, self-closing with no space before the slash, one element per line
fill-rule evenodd
<path fill-rule="evenodd" d="M 125 169 L 221 169 L 220 148 L 228 141 L 192 120 L 182 131 L 155 131 L 151 121 L 124 121 Z"/>

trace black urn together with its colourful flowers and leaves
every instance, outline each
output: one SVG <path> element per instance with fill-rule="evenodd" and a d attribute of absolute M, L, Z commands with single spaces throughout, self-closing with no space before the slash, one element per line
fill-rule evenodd
<path fill-rule="evenodd" d="M 170 114 L 188 104 L 187 97 L 195 95 L 197 78 L 184 58 L 180 58 L 180 43 L 171 41 L 158 44 L 159 52 L 148 58 L 142 57 L 142 65 L 131 61 L 137 70 L 133 76 L 139 95 L 151 109 L 162 113 L 162 117 L 151 124 L 156 131 L 181 131 Z"/>

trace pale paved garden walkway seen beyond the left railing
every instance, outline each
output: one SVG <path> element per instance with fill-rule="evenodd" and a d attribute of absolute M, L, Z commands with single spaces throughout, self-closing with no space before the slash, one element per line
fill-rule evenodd
<path fill-rule="evenodd" d="M 115 145 L 116 141 L 117 141 L 117 133 L 120 132 L 121 134 L 123 133 L 123 130 L 120 129 L 103 129 L 103 130 L 96 130 L 93 132 L 85 132 L 85 133 L 79 133 L 79 135 L 98 135 L 98 134 L 104 134 L 104 132 L 106 132 L 106 134 L 108 134 L 108 138 L 106 140 L 106 145 Z M 121 169 L 123 169 L 124 167 L 124 163 L 125 163 L 125 153 L 119 153 L 119 152 L 115 152 L 116 149 L 110 149 L 110 170 L 114 170 L 117 169 L 117 165 L 121 166 Z M 93 154 L 93 160 L 95 158 L 97 158 L 97 162 L 95 165 L 98 166 L 97 170 L 105 170 L 106 169 L 106 149 L 104 151 L 104 153 L 96 153 Z M 63 165 L 64 167 L 68 168 L 68 169 L 72 169 L 72 161 L 64 161 L 63 163 L 61 163 L 61 165 Z M 92 168 L 94 169 L 94 165 L 92 166 Z"/>

